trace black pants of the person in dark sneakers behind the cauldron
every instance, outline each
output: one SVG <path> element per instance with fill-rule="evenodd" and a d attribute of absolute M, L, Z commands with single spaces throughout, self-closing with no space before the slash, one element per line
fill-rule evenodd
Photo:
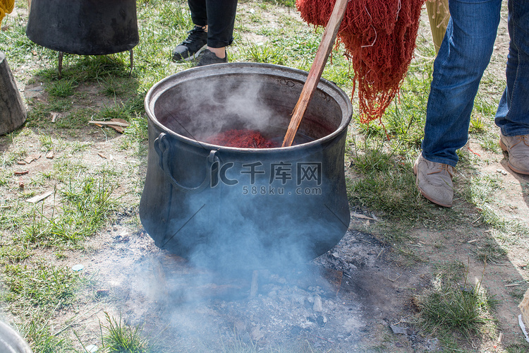
<path fill-rule="evenodd" d="M 227 47 L 233 42 L 237 0 L 188 0 L 188 4 L 193 23 L 207 25 L 208 47 Z"/>

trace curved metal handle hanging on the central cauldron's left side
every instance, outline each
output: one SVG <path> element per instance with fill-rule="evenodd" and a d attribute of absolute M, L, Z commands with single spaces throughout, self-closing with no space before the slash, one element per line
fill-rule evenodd
<path fill-rule="evenodd" d="M 166 133 L 160 133 L 158 138 L 154 140 L 154 150 L 156 150 L 158 157 L 159 157 L 159 167 L 162 168 L 162 170 L 165 172 L 165 175 L 167 178 L 169 178 L 169 181 L 171 181 L 171 184 L 173 184 L 178 190 L 184 192 L 184 193 L 200 193 L 208 185 L 211 184 L 211 178 L 212 178 L 212 165 L 214 162 L 219 162 L 219 157 L 217 157 L 217 150 L 211 150 L 209 152 L 209 156 L 206 158 L 206 177 L 202 181 L 202 183 L 198 186 L 195 186 L 193 188 L 188 188 L 186 186 L 183 186 L 174 179 L 173 174 L 171 173 L 171 169 L 169 168 L 169 156 L 171 153 L 169 152 L 171 149 L 171 143 L 169 141 L 169 138 L 167 137 Z"/>

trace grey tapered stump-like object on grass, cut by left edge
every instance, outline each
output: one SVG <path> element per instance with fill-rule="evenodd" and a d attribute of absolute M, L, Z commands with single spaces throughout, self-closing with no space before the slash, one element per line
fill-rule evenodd
<path fill-rule="evenodd" d="M 19 128 L 27 117 L 6 56 L 0 52 L 0 136 Z"/>

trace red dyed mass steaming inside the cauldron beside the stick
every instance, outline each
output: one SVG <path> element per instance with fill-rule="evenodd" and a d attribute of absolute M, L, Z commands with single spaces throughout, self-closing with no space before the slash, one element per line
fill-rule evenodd
<path fill-rule="evenodd" d="M 264 138 L 259 131 L 254 130 L 228 130 L 217 135 L 209 136 L 205 142 L 236 148 L 274 148 L 279 147 L 272 140 Z"/>

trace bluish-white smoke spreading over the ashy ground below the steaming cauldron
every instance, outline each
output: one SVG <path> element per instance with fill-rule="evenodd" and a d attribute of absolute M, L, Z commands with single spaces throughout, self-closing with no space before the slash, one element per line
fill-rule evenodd
<path fill-rule="evenodd" d="M 152 258 L 152 262 L 161 266 L 164 277 L 152 276 L 145 262 L 141 264 L 143 273 L 130 273 L 133 289 L 149 290 L 150 299 L 126 303 L 128 310 L 136 313 L 136 320 L 129 322 L 147 321 L 147 332 L 151 325 L 157 328 L 155 333 L 163 330 L 160 338 L 174 347 L 170 352 L 232 352 L 229 345 L 233 342 L 278 347 L 290 335 L 303 336 L 312 330 L 322 337 L 336 335 L 334 328 L 325 326 L 332 315 L 329 310 L 336 310 L 333 290 L 315 265 L 255 273 L 233 270 L 227 275 L 191 263 L 176 264 L 178 260 L 171 256 Z M 148 285 L 140 287 L 142 281 Z M 343 313 L 351 315 L 348 309 Z M 334 321 L 337 325 L 341 322 Z"/>

